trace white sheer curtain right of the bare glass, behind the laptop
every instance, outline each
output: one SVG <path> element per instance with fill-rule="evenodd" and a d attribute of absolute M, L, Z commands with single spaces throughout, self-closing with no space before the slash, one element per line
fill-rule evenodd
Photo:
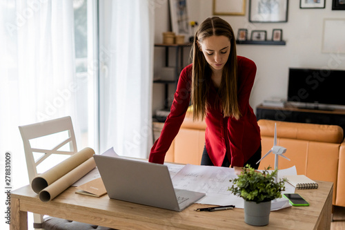
<path fill-rule="evenodd" d="M 101 150 L 148 157 L 152 146 L 154 10 L 150 0 L 112 1 L 109 73 L 101 91 Z M 110 29 L 110 28 L 109 28 Z M 103 134 L 103 135 L 102 135 Z"/>

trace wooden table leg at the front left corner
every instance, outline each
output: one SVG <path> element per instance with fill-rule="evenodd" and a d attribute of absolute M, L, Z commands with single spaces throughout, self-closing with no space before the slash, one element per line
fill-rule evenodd
<path fill-rule="evenodd" d="M 20 210 L 19 199 L 11 200 L 10 230 L 28 230 L 28 213 Z"/>

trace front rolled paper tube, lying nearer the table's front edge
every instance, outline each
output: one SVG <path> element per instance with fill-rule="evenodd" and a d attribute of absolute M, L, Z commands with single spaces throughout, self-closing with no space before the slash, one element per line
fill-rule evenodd
<path fill-rule="evenodd" d="M 93 157 L 83 162 L 77 168 L 73 169 L 66 175 L 63 175 L 62 178 L 50 184 L 46 189 L 43 189 L 39 193 L 39 199 L 43 202 L 48 202 L 54 199 L 57 195 L 68 189 L 69 186 L 77 182 L 82 178 L 86 173 L 90 172 L 92 169 L 95 169 L 96 162 Z"/>

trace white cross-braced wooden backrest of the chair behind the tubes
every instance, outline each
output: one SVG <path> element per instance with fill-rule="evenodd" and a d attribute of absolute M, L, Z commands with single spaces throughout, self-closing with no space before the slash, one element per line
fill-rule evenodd
<path fill-rule="evenodd" d="M 36 124 L 29 124 L 26 126 L 19 126 L 19 131 L 21 133 L 21 138 L 23 139 L 24 151 L 26 155 L 26 166 L 28 167 L 28 175 L 30 184 L 35 178 L 37 173 L 37 166 L 46 160 L 52 154 L 63 154 L 63 155 L 72 155 L 77 153 L 77 142 L 75 140 L 75 132 L 72 126 L 72 119 L 68 117 L 61 117 L 58 119 L 52 119 L 46 122 L 39 122 Z M 63 136 L 64 140 L 61 141 L 56 146 L 52 148 L 39 148 L 32 147 L 30 140 L 38 139 L 39 137 L 46 137 L 48 135 L 54 135 L 67 131 L 68 137 Z M 65 139 L 66 138 L 66 139 Z M 60 150 L 60 148 L 69 147 L 69 150 Z M 34 158 L 34 153 L 41 153 L 41 157 L 37 160 Z"/>

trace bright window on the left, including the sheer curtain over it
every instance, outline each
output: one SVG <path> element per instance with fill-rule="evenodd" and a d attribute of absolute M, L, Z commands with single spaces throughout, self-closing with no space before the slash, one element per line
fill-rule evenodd
<path fill-rule="evenodd" d="M 0 4 L 0 165 L 4 153 L 10 151 L 14 189 L 28 184 L 20 125 L 71 115 L 79 138 L 78 149 L 98 148 L 97 1 L 66 1 L 63 8 L 61 4 L 62 1 L 26 0 Z M 67 12 L 62 19 L 59 10 Z M 75 21 L 74 30 L 69 20 Z M 55 38 L 61 31 L 58 26 L 75 39 L 68 41 L 67 48 L 56 46 L 64 42 Z M 59 55 L 55 57 L 53 52 Z M 61 71 L 59 65 L 66 63 L 75 73 L 69 66 Z M 73 95 L 66 88 L 70 83 L 77 88 Z M 72 110 L 65 108 L 70 102 Z"/>

